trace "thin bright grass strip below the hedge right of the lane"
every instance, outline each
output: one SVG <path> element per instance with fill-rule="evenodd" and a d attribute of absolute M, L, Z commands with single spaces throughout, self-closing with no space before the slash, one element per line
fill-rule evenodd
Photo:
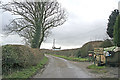
<path fill-rule="evenodd" d="M 64 59 L 67 59 L 67 60 L 70 60 L 70 61 L 78 61 L 78 62 L 87 62 L 87 61 L 89 61 L 88 58 L 74 58 L 74 57 L 66 57 L 66 56 L 55 55 L 55 54 L 53 56 L 64 58 Z"/>

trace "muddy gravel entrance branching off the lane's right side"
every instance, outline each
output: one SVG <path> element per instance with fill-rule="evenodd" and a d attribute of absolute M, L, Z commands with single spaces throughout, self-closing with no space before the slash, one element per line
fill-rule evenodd
<path fill-rule="evenodd" d="M 77 62 L 74 62 L 77 63 Z M 88 69 L 87 66 L 93 64 L 92 62 L 79 62 L 80 65 L 75 64 L 81 67 L 89 75 L 94 78 L 118 78 L 118 67 L 106 67 L 104 69 Z"/>

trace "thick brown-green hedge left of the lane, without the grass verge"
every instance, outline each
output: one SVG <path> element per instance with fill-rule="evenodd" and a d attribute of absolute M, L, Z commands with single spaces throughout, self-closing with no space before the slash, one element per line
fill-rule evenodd
<path fill-rule="evenodd" d="M 14 71 L 37 65 L 43 56 L 38 49 L 31 49 L 27 46 L 2 46 L 2 72 L 7 75 Z"/>

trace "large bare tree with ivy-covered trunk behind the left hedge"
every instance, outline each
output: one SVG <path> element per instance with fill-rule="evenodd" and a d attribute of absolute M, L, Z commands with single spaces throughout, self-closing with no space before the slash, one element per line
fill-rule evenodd
<path fill-rule="evenodd" d="M 15 32 L 24 37 L 32 48 L 40 48 L 45 36 L 49 34 L 49 30 L 66 21 L 66 12 L 56 0 L 13 1 L 2 5 L 2 9 L 13 15 L 20 15 L 7 25 L 7 30 L 9 33 Z"/>

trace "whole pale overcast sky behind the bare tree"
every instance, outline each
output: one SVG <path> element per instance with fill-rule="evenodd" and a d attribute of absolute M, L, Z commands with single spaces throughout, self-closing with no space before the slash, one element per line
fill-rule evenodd
<path fill-rule="evenodd" d="M 7 1 L 7 0 L 4 0 Z M 41 48 L 52 48 L 53 39 L 56 47 L 62 49 L 79 48 L 88 41 L 108 38 L 106 28 L 108 18 L 118 8 L 120 0 L 58 0 L 68 13 L 67 21 L 52 29 L 50 36 L 42 43 Z M 9 13 L 0 11 L 0 24 L 6 25 L 12 19 Z M 3 26 L 1 26 L 3 27 Z M 23 44 L 18 35 L 6 37 L 0 31 L 0 44 Z M 2 42 L 2 43 L 1 43 Z"/>

